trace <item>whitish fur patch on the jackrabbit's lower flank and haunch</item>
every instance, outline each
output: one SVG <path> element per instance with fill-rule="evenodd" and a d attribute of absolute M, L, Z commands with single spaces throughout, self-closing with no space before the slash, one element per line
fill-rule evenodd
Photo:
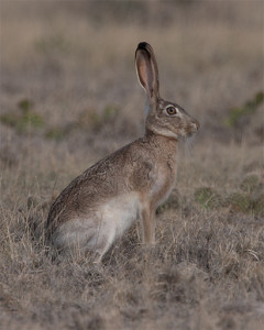
<path fill-rule="evenodd" d="M 55 232 L 53 242 L 58 248 L 77 245 L 103 253 L 136 220 L 139 210 L 138 194 L 114 197 L 87 218 L 63 223 Z"/>

